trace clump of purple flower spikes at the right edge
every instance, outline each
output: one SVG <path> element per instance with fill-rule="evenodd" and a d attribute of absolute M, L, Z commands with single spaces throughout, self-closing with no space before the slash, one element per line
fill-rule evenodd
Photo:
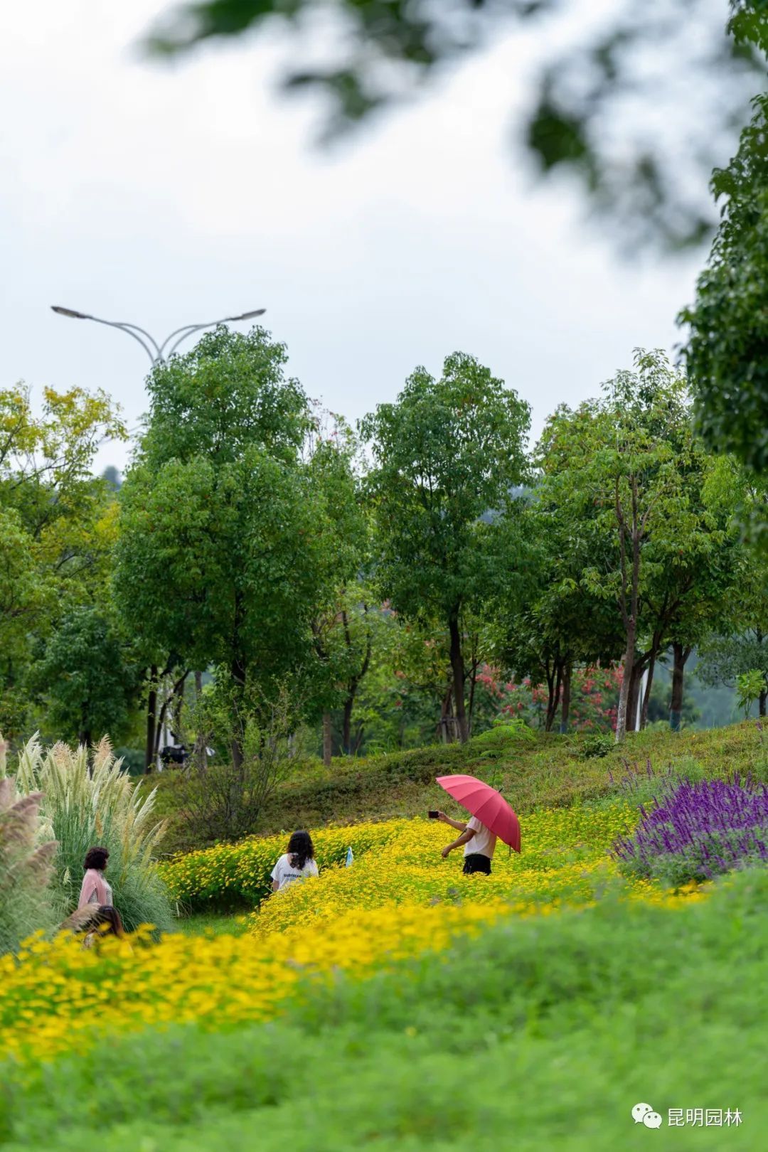
<path fill-rule="evenodd" d="M 614 856 L 625 874 L 671 887 L 765 864 L 768 787 L 738 776 L 667 783 L 653 811 L 640 808 L 633 835 L 616 840 Z"/>

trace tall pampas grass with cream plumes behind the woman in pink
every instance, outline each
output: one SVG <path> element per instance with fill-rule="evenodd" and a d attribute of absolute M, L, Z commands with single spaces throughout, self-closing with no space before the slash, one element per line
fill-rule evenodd
<path fill-rule="evenodd" d="M 85 852 L 109 851 L 108 879 L 126 927 L 168 927 L 172 909 L 154 864 L 165 825 L 153 820 L 154 793 L 142 799 L 115 760 L 108 740 L 93 750 L 54 744 L 44 753 L 35 735 L 18 757 L 20 791 L 41 791 L 41 812 L 59 841 L 54 890 L 66 910 L 76 903 Z"/>

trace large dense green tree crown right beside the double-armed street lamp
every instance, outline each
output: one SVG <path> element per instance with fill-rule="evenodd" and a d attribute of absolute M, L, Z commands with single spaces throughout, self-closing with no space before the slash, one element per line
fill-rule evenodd
<path fill-rule="evenodd" d="M 312 418 L 301 386 L 284 378 L 286 358 L 261 328 L 218 328 L 154 369 L 116 550 L 129 632 L 263 695 L 311 664 L 312 621 L 339 548 L 303 458 Z"/>

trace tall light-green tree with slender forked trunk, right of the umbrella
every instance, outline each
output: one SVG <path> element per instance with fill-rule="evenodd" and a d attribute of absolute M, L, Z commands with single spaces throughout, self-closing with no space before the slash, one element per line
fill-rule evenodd
<path fill-rule="evenodd" d="M 621 740 L 642 673 L 669 644 L 690 652 L 725 611 L 739 558 L 735 501 L 725 507 L 722 484 L 709 491 L 715 461 L 692 433 L 684 377 L 663 353 L 638 351 L 636 371 L 603 391 L 548 422 L 542 488 L 588 541 L 580 585 L 613 601 L 623 624 Z M 646 708 L 649 690 L 651 677 Z"/>

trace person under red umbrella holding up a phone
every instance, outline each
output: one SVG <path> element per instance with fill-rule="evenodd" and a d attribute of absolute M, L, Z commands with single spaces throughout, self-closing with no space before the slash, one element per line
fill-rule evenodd
<path fill-rule="evenodd" d="M 491 874 L 491 861 L 496 848 L 496 839 L 520 850 L 520 824 L 516 813 L 509 806 L 501 793 L 497 793 L 484 780 L 474 776 L 454 775 L 436 776 L 436 781 L 449 796 L 458 801 L 470 813 L 471 819 L 464 824 L 453 820 L 444 812 L 438 812 L 438 819 L 456 828 L 461 835 L 442 850 L 446 859 L 454 848 L 464 848 L 464 872 L 485 872 Z"/>

